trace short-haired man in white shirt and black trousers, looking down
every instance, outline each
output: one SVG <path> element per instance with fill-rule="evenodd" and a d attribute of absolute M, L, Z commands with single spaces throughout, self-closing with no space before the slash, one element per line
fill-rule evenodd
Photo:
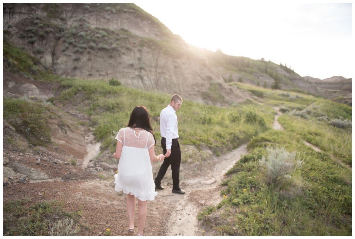
<path fill-rule="evenodd" d="M 178 117 L 175 112 L 180 109 L 182 98 L 174 94 L 171 97 L 170 104 L 160 112 L 160 134 L 162 135 L 162 148 L 165 156 L 163 164 L 160 166 L 157 177 L 154 180 L 155 189 L 162 190 L 164 187 L 160 185 L 166 170 L 171 165 L 173 178 L 173 190 L 171 192 L 177 194 L 185 194 L 179 186 L 181 151 L 178 142 Z"/>

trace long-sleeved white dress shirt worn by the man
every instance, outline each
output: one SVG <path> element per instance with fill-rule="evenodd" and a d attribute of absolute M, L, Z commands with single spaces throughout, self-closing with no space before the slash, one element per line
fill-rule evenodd
<path fill-rule="evenodd" d="M 179 138 L 178 116 L 176 110 L 168 105 L 160 112 L 160 135 L 165 138 L 166 149 L 171 149 L 171 140 Z"/>

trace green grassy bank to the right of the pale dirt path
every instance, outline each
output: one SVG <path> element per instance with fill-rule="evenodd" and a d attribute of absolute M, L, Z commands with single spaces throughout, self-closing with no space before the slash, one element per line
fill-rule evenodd
<path fill-rule="evenodd" d="M 257 90 L 263 92 L 267 103 L 282 102 L 271 96 L 270 90 Z M 315 99 L 302 97 L 291 106 L 306 109 Z M 345 105 L 320 98 L 314 104 L 317 107 L 308 107 L 307 119 L 284 114 L 279 117 L 283 131 L 270 129 L 253 137 L 247 146 L 249 154 L 226 173 L 228 177 L 222 184 L 227 187 L 220 192 L 226 198 L 205 208 L 198 219 L 207 221 L 205 224 L 219 235 L 351 235 L 352 173 L 344 166 L 351 165 L 351 129 L 335 128 L 311 115 L 342 115 L 351 120 L 351 111 Z M 285 101 L 283 105 L 290 103 Z M 304 141 L 324 152 L 316 152 Z M 265 183 L 259 165 L 267 153 L 265 147 L 285 147 L 296 153 L 296 160 L 303 161 L 291 174 L 293 183 L 285 184 L 282 190 Z M 207 220 L 215 209 L 219 209 L 218 224 Z"/>

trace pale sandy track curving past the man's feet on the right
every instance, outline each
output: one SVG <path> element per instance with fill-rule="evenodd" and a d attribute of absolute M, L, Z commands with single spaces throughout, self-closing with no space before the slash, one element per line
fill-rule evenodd
<path fill-rule="evenodd" d="M 171 216 L 167 223 L 166 235 L 193 236 L 201 235 L 203 228 L 198 224 L 197 214 L 202 208 L 215 206 L 221 200 L 220 183 L 224 174 L 233 167 L 242 154 L 246 154 L 246 145 L 220 157 L 213 157 L 217 162 L 207 175 L 187 179 L 184 182 L 184 195 L 172 194 L 171 191 L 159 191 L 159 200 L 171 204 Z M 163 199 L 162 199 L 163 198 Z"/>

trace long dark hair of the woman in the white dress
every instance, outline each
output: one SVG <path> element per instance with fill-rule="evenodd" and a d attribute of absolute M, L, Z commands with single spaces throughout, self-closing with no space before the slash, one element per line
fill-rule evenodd
<path fill-rule="evenodd" d="M 148 110 L 143 105 L 138 105 L 132 110 L 127 127 L 147 130 L 152 133 L 154 142 L 156 142 Z"/>

